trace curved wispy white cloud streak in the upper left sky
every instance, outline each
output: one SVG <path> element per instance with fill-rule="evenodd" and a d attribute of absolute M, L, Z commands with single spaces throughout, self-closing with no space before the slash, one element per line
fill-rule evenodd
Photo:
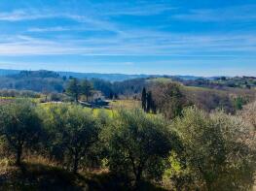
<path fill-rule="evenodd" d="M 9 13 L 0 13 L 0 21 L 24 21 L 24 20 L 37 20 L 37 19 L 57 19 L 66 18 L 74 20 L 81 24 L 86 24 L 84 26 L 55 26 L 55 27 L 30 27 L 27 29 L 28 32 L 56 32 L 56 31 L 68 31 L 68 30 L 105 30 L 113 31 L 115 33 L 122 33 L 122 31 L 117 27 L 114 22 L 108 21 L 107 19 L 102 19 L 100 16 L 91 15 L 78 15 L 71 12 L 59 12 L 55 10 L 48 9 L 27 9 L 27 10 L 16 10 Z"/>

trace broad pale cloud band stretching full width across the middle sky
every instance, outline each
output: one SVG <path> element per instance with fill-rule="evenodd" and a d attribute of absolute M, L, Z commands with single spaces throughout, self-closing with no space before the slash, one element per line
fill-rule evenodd
<path fill-rule="evenodd" d="M 256 52 L 253 35 L 180 35 L 154 31 L 129 31 L 116 37 L 84 39 L 30 36 L 10 37 L 0 43 L 0 55 L 180 55 L 248 56 Z"/>

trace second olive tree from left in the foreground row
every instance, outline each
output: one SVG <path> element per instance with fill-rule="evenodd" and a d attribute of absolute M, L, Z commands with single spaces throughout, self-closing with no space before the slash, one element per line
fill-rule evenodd
<path fill-rule="evenodd" d="M 55 150 L 57 153 L 61 150 L 72 172 L 77 173 L 79 162 L 98 141 L 100 123 L 91 111 L 76 105 L 55 105 L 47 113 L 45 125 L 52 142 L 50 151 L 55 154 Z"/>

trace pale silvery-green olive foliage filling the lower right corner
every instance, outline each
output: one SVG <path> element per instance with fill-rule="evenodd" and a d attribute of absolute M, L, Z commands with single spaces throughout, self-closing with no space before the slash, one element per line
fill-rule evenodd
<path fill-rule="evenodd" d="M 255 158 L 247 144 L 249 128 L 224 112 L 184 111 L 173 124 L 184 145 L 180 159 L 194 183 L 206 190 L 248 190 L 253 185 Z"/>

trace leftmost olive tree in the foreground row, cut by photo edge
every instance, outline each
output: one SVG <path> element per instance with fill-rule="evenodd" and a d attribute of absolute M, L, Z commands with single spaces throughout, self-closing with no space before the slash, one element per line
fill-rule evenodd
<path fill-rule="evenodd" d="M 0 133 L 16 154 L 20 166 L 23 148 L 39 141 L 41 120 L 35 106 L 28 101 L 18 101 L 0 107 Z"/>

